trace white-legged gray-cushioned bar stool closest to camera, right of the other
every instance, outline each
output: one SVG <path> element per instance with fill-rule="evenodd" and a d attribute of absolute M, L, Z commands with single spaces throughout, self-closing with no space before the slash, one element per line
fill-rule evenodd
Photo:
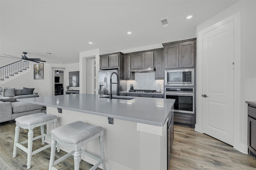
<path fill-rule="evenodd" d="M 100 166 L 100 164 L 102 164 L 103 170 L 106 170 L 102 127 L 91 126 L 82 121 L 76 121 L 68 125 L 55 128 L 51 131 L 51 133 L 52 143 L 49 170 L 56 169 L 54 168 L 56 164 L 68 158 L 72 154 L 74 154 L 74 170 L 79 170 L 81 153 L 98 161 L 94 166 L 92 166 L 92 168 L 90 168 L 90 170 L 95 170 L 98 166 Z M 101 158 L 81 149 L 84 144 L 94 140 L 95 138 L 99 138 Z M 61 145 L 63 144 L 65 147 L 74 148 L 74 150 L 54 161 L 56 142 L 60 143 Z"/>

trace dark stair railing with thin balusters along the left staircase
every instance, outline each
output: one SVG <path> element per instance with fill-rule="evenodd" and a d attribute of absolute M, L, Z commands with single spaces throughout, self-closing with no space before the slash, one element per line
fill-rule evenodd
<path fill-rule="evenodd" d="M 4 79 L 8 79 L 10 76 L 14 76 L 14 74 L 18 74 L 18 72 L 22 72 L 22 70 L 26 70 L 27 68 L 29 68 L 29 63 L 24 60 L 0 67 L 0 80 L 4 81 Z"/>

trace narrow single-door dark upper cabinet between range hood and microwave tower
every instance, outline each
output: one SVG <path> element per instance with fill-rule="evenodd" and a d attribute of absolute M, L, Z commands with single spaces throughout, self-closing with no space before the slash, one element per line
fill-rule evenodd
<path fill-rule="evenodd" d="M 155 79 L 164 79 L 164 49 L 155 51 Z"/>

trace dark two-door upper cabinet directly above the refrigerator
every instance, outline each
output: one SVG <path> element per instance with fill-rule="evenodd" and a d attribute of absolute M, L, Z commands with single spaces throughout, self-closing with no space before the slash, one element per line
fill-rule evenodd
<path fill-rule="evenodd" d="M 120 69 L 123 55 L 121 52 L 100 55 L 100 69 Z"/>

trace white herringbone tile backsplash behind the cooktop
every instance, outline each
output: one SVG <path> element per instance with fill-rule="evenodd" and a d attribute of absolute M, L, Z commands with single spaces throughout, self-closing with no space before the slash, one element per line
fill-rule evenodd
<path fill-rule="evenodd" d="M 135 73 L 134 76 L 134 80 L 127 81 L 127 90 L 130 89 L 130 84 L 133 84 L 134 89 L 156 90 L 159 83 L 163 91 L 164 80 L 155 80 L 155 72 Z"/>

